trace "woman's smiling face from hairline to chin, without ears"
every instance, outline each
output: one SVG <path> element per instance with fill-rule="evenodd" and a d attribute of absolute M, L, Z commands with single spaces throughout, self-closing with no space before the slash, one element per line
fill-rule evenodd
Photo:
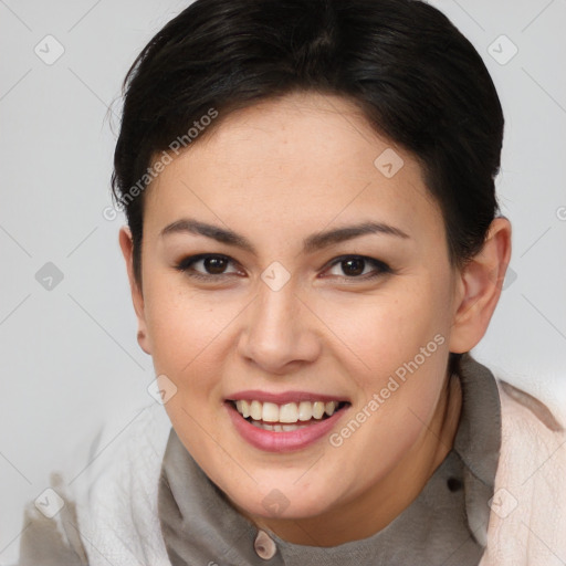
<path fill-rule="evenodd" d="M 417 163 L 345 99 L 294 94 L 228 116 L 146 197 L 142 344 L 185 447 L 250 514 L 361 501 L 446 385 L 458 285 Z"/>

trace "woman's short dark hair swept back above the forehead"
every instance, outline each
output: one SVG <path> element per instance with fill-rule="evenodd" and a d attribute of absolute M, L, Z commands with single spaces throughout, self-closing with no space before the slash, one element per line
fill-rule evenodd
<path fill-rule="evenodd" d="M 504 119 L 481 56 L 442 12 L 417 0 L 197 0 L 124 81 L 112 186 L 139 285 L 144 188 L 156 156 L 182 136 L 198 143 L 237 108 L 294 91 L 354 102 L 419 161 L 451 263 L 481 250 L 499 212 Z M 211 109 L 219 117 L 199 127 Z"/>

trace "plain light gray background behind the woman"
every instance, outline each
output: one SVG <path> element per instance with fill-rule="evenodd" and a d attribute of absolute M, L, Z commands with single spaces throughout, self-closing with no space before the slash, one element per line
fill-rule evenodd
<path fill-rule="evenodd" d="M 0 564 L 15 560 L 21 506 L 49 471 L 99 422 L 114 419 L 119 434 L 132 408 L 151 402 L 117 243 L 124 219 L 103 217 L 106 114 L 135 55 L 188 3 L 0 0 Z M 474 354 L 566 413 L 566 0 L 431 3 L 482 54 L 506 118 L 497 189 L 513 271 Z M 49 34 L 64 49 L 52 64 L 34 52 L 56 54 Z M 35 279 L 48 262 L 64 277 L 51 291 Z"/>

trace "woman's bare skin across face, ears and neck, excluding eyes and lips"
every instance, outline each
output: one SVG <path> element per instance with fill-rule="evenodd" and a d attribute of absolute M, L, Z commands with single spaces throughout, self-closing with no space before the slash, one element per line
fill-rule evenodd
<path fill-rule="evenodd" d="M 374 165 L 387 148 L 405 163 L 391 178 Z M 184 446 L 235 509 L 290 542 L 333 546 L 381 530 L 452 448 L 461 390 L 448 356 L 470 350 L 486 331 L 510 260 L 509 221 L 495 219 L 482 251 L 452 268 L 417 161 L 350 102 L 318 94 L 230 114 L 146 191 L 142 286 L 126 227 L 119 243 L 138 340 L 156 375 L 177 387 L 165 408 Z M 181 218 L 230 229 L 255 253 L 201 234 L 160 235 Z M 374 233 L 302 250 L 311 234 L 369 220 L 408 238 Z M 202 281 L 176 269 L 197 253 L 231 259 L 227 274 Z M 334 263 L 344 254 L 394 272 L 366 263 L 352 274 Z M 261 279 L 274 261 L 291 274 L 279 291 Z M 192 270 L 210 273 L 203 262 Z M 324 438 L 269 453 L 228 417 L 224 400 L 237 391 L 325 392 L 352 403 L 339 432 L 436 335 L 443 344 L 339 447 Z M 275 489 L 286 503 L 269 510 L 262 502 Z"/>

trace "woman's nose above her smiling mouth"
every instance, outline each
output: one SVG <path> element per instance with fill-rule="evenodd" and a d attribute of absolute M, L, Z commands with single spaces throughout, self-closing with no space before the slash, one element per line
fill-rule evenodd
<path fill-rule="evenodd" d="M 317 318 L 292 282 L 274 291 L 259 283 L 259 296 L 247 310 L 238 350 L 265 373 L 285 374 L 314 361 L 321 353 Z"/>

